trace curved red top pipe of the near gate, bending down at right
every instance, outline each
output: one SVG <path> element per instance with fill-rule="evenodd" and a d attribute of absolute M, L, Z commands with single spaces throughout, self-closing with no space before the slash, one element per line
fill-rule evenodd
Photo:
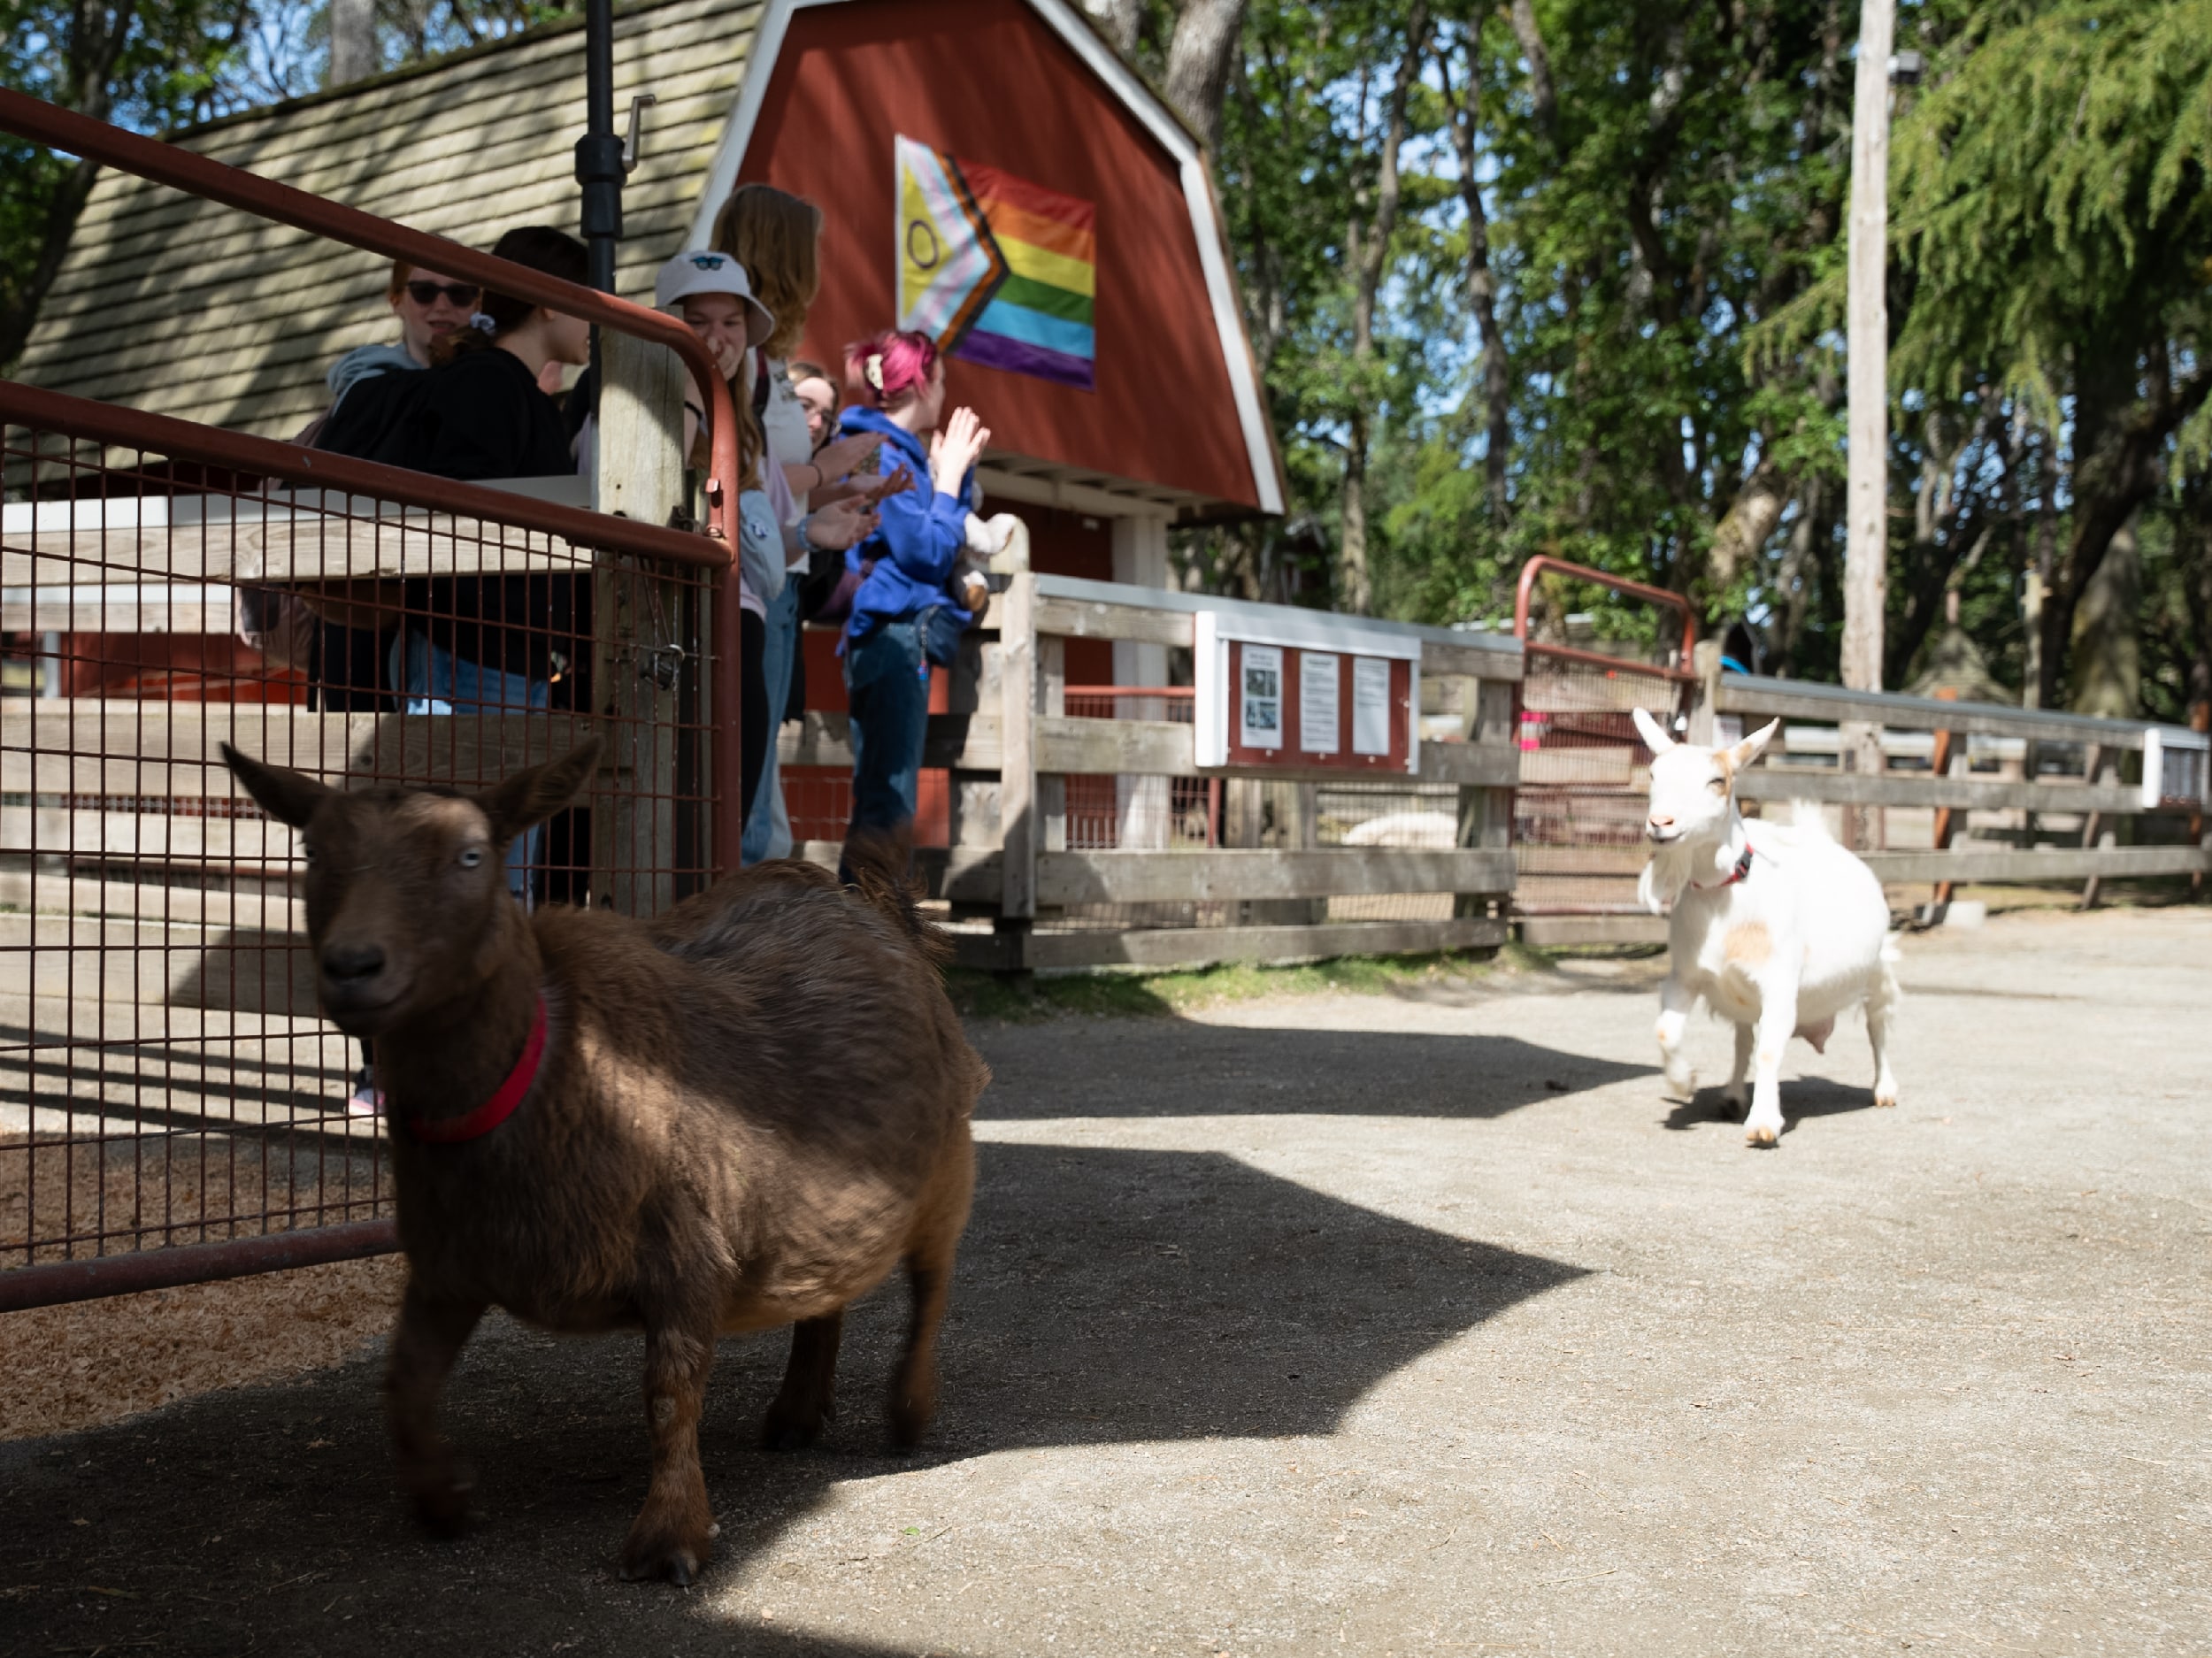
<path fill-rule="evenodd" d="M 737 604 L 739 577 L 732 559 L 739 537 L 737 405 L 730 398 L 730 385 L 714 371 L 714 358 L 697 334 L 672 316 L 646 309 L 644 305 L 633 305 L 626 298 L 615 298 L 613 294 L 602 294 L 580 283 L 566 283 L 560 276 L 546 276 L 542 270 L 515 265 L 507 259 L 493 259 L 491 254 L 482 254 L 476 248 L 449 241 L 447 237 L 409 230 L 407 225 L 378 219 L 361 208 L 325 201 L 307 190 L 294 190 L 276 179 L 263 179 L 254 172 L 246 172 L 243 168 L 226 166 L 223 161 L 197 155 L 177 144 L 164 144 L 139 133 L 126 133 L 119 126 L 95 122 L 88 115 L 58 108 L 55 104 L 46 104 L 44 99 L 29 97 L 24 93 L 0 88 L 0 130 L 31 139 L 33 144 L 44 144 L 53 150 L 64 150 L 66 155 L 82 155 L 91 161 L 100 161 L 102 166 L 117 168 L 119 172 L 150 179 L 153 183 L 166 183 L 173 190 L 184 190 L 186 195 L 195 195 L 206 201 L 219 201 L 226 208 L 250 212 L 257 219 L 270 219 L 274 223 L 292 225 L 294 230 L 305 230 L 314 237 L 325 237 L 327 241 L 341 241 L 349 248 L 380 254 L 383 259 L 407 259 L 429 270 L 469 276 L 500 294 L 513 294 L 515 298 L 526 298 L 568 316 L 582 316 L 599 327 L 611 327 L 619 334 L 630 334 L 635 338 L 670 347 L 692 371 L 692 378 L 706 387 L 708 398 L 710 466 L 706 480 L 706 502 L 710 533 L 723 544 L 723 559 L 728 564 L 723 590 L 714 604 L 714 652 L 723 661 L 723 672 L 717 672 L 712 679 L 712 752 L 717 787 L 723 787 L 723 778 L 734 780 L 739 776 L 741 623 Z M 248 440 L 241 438 L 241 442 Z M 294 447 L 294 453 L 312 451 L 299 451 Z M 336 458 L 323 455 L 316 464 L 330 464 L 332 460 Z M 431 484 L 434 480 L 396 469 L 378 471 L 396 480 L 407 480 L 405 484 L 380 486 L 378 493 L 398 502 L 414 500 L 425 506 L 438 504 L 425 491 L 425 484 Z M 336 478 L 336 473 L 325 473 L 325 478 Z M 524 522 L 513 513 L 502 513 L 502 517 L 509 517 L 515 524 Z M 604 542 L 606 537 L 597 535 L 586 539 Z M 743 809 L 717 811 L 717 867 L 730 871 L 739 867 L 741 840 Z"/>

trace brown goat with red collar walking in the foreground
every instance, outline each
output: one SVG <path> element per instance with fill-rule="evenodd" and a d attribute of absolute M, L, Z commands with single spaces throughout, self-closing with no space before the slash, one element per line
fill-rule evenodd
<path fill-rule="evenodd" d="M 465 796 L 341 794 L 223 749 L 303 831 L 323 1008 L 376 1043 L 407 1251 L 385 1379 L 400 1486 L 434 1530 L 467 1521 L 438 1395 L 487 1307 L 553 1331 L 644 1326 L 653 1483 L 622 1574 L 688 1583 L 717 1530 L 699 1472 L 717 1335 L 796 1326 L 765 1441 L 810 1444 L 843 1309 L 905 1262 L 891 1433 L 914 1444 L 929 1424 L 989 1072 L 889 880 L 776 862 L 657 922 L 526 915 L 502 853 L 597 756 L 591 741 Z M 520 1105 L 484 1127 L 531 1048 Z"/>

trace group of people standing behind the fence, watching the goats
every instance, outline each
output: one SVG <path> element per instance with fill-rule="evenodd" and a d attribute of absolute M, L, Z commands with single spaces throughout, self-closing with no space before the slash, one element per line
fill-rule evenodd
<path fill-rule="evenodd" d="M 945 411 L 945 365 L 927 334 L 885 329 L 845 349 L 843 398 L 796 360 L 821 290 L 823 217 L 770 186 L 741 186 L 712 245 L 670 259 L 655 305 L 708 347 L 739 411 L 741 776 L 745 862 L 792 849 L 774 732 L 803 707 L 801 626 L 841 628 L 852 710 L 852 831 L 900 833 L 916 811 L 929 670 L 953 659 L 987 599 L 1009 522 L 978 515 L 975 462 L 991 440 L 971 409 Z M 584 243 L 549 225 L 491 252 L 586 281 Z M 387 301 L 396 345 L 330 369 L 332 407 L 303 442 L 453 480 L 591 473 L 597 387 L 580 318 L 398 261 Z M 684 442 L 703 464 L 708 396 L 686 396 Z M 303 592 L 299 628 L 314 705 L 327 712 L 522 712 L 591 707 L 591 577 L 445 575 Z M 580 652 L 577 648 L 584 646 Z M 575 652 L 575 654 L 573 654 Z M 796 683 L 794 683 L 796 681 Z M 509 851 L 524 902 L 575 895 L 580 844 L 533 829 Z M 560 878 L 549 875 L 560 871 Z M 356 1108 L 374 1110 L 367 1077 Z"/>

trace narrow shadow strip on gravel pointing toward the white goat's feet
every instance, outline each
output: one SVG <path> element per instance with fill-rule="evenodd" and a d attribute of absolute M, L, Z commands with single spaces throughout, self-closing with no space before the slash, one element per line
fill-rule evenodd
<path fill-rule="evenodd" d="M 1542 1099 L 1652 1077 L 1517 1037 L 1270 1030 L 1062 1019 L 971 1032 L 991 1061 L 980 1116 L 1433 1116 L 1486 1119 Z"/>

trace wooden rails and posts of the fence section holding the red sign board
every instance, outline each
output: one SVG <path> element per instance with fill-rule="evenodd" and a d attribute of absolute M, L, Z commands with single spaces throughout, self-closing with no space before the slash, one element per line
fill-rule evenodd
<path fill-rule="evenodd" d="M 1301 844 L 1281 847 L 1068 847 L 1068 778 L 1077 776 L 1121 783 L 1208 778 L 1230 789 L 1267 783 L 1336 791 L 1376 787 L 1369 774 L 1329 765 L 1201 767 L 1190 723 L 1066 712 L 1071 639 L 1192 648 L 1206 610 L 1259 628 L 1294 626 L 1285 617 L 1296 626 L 1316 626 L 1312 612 L 1031 573 L 1015 575 L 998 597 L 984 621 L 995 639 L 978 663 L 975 712 L 931 718 L 929 763 L 951 765 L 956 778 L 964 778 L 962 800 L 971 809 L 962 811 L 960 836 L 973 836 L 998 858 L 1000 893 L 991 931 L 962 933 L 962 959 L 998 970 L 1181 966 L 1502 942 L 1509 926 L 1504 900 L 1513 891 L 1506 802 L 1517 778 L 1511 685 L 1520 679 L 1522 654 L 1515 641 L 1471 643 L 1442 628 L 1358 623 L 1387 630 L 1407 641 L 1407 650 L 1418 650 L 1418 683 L 1453 710 L 1449 718 L 1458 721 L 1458 741 L 1425 741 L 1420 703 L 1427 696 L 1416 694 L 1411 741 L 1418 763 L 1411 774 L 1383 778 L 1436 791 L 1440 811 L 1449 811 L 1453 822 L 1451 847 L 1318 847 L 1312 844 L 1310 820 L 1294 827 Z M 787 754 L 830 763 L 827 756 L 841 747 L 843 734 L 821 721 L 810 723 Z M 956 847 L 953 858 L 960 851 Z M 1449 904 L 1422 917 L 1352 920 L 1332 913 L 1332 900 L 1389 895 Z M 1230 920 L 1148 926 L 1113 917 L 1077 924 L 1073 915 L 1115 906 L 1217 906 Z M 1287 913 L 1296 920 L 1279 920 Z"/>

